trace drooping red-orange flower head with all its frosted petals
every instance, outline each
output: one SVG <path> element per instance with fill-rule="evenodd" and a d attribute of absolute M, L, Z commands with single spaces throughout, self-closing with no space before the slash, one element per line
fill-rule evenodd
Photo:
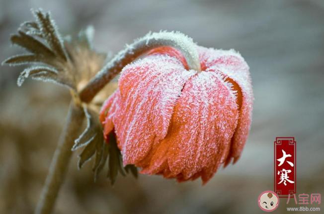
<path fill-rule="evenodd" d="M 114 131 L 123 164 L 143 174 L 206 183 L 239 159 L 251 122 L 249 67 L 234 50 L 197 47 L 202 72 L 160 47 L 125 66 L 100 121 Z"/>

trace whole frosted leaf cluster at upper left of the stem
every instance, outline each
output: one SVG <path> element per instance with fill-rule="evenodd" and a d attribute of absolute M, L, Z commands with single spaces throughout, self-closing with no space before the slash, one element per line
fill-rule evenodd
<path fill-rule="evenodd" d="M 3 64 L 9 66 L 37 64 L 51 67 L 57 73 L 38 72 L 33 79 L 53 82 L 69 87 L 78 92 L 102 68 L 106 54 L 97 53 L 90 45 L 93 27 L 89 26 L 80 32 L 79 38 L 63 40 L 50 13 L 41 9 L 33 11 L 36 21 L 24 22 L 17 34 L 10 36 L 12 44 L 28 51 L 27 54 L 12 56 Z M 72 38 L 72 37 L 71 37 Z M 33 70 L 29 68 L 28 70 Z M 26 71 L 21 75 L 18 84 L 26 79 Z"/>

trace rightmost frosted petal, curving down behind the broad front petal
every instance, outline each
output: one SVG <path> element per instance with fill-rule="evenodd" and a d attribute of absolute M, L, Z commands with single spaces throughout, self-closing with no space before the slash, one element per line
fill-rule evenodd
<path fill-rule="evenodd" d="M 253 92 L 249 67 L 243 57 L 234 50 L 215 50 L 199 47 L 202 68 L 206 71 L 219 72 L 233 84 L 233 90 L 238 93 L 238 106 L 240 116 L 236 132 L 232 139 L 231 151 L 225 162 L 229 164 L 234 159 L 236 162 L 242 153 L 243 146 L 250 129 Z"/>

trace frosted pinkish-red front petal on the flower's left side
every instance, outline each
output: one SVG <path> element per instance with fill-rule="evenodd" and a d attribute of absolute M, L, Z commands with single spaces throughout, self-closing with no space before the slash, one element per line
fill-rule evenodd
<path fill-rule="evenodd" d="M 124 67 L 120 106 L 113 118 L 124 165 L 145 158 L 156 139 L 166 136 L 176 100 L 195 72 L 167 55 L 151 55 Z"/>

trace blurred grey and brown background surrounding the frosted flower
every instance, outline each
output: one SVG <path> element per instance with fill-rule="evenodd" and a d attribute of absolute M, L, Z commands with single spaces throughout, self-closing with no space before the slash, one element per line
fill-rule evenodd
<path fill-rule="evenodd" d="M 55 213 L 262 213 L 258 195 L 273 190 L 273 141 L 297 140 L 297 193 L 324 194 L 324 1 L 322 0 L 0 0 L 0 61 L 20 53 L 10 33 L 51 10 L 60 32 L 92 24 L 94 46 L 116 53 L 148 31 L 178 30 L 201 46 L 238 50 L 250 66 L 253 121 L 241 159 L 200 180 L 119 177 L 111 187 L 75 152 Z M 56 147 L 70 95 L 32 80 L 18 88 L 22 67 L 0 67 L 0 213 L 32 213 Z M 106 171 L 105 171 L 106 172 Z M 281 199 L 276 213 L 285 213 Z M 290 203 L 294 206 L 293 203 Z M 323 210 L 322 205 L 322 210 Z"/>

